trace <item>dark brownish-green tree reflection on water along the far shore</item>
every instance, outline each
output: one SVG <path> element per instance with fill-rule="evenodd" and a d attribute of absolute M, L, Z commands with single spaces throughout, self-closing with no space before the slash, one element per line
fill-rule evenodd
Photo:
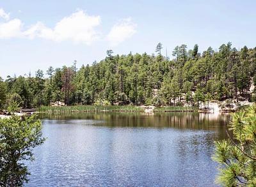
<path fill-rule="evenodd" d="M 143 128 L 177 128 L 190 130 L 217 131 L 220 138 L 226 138 L 225 124 L 230 121 L 229 114 L 202 113 L 74 113 L 74 114 L 41 114 L 41 118 L 49 119 L 93 119 L 100 121 L 97 126 L 108 127 L 143 127 Z"/>

